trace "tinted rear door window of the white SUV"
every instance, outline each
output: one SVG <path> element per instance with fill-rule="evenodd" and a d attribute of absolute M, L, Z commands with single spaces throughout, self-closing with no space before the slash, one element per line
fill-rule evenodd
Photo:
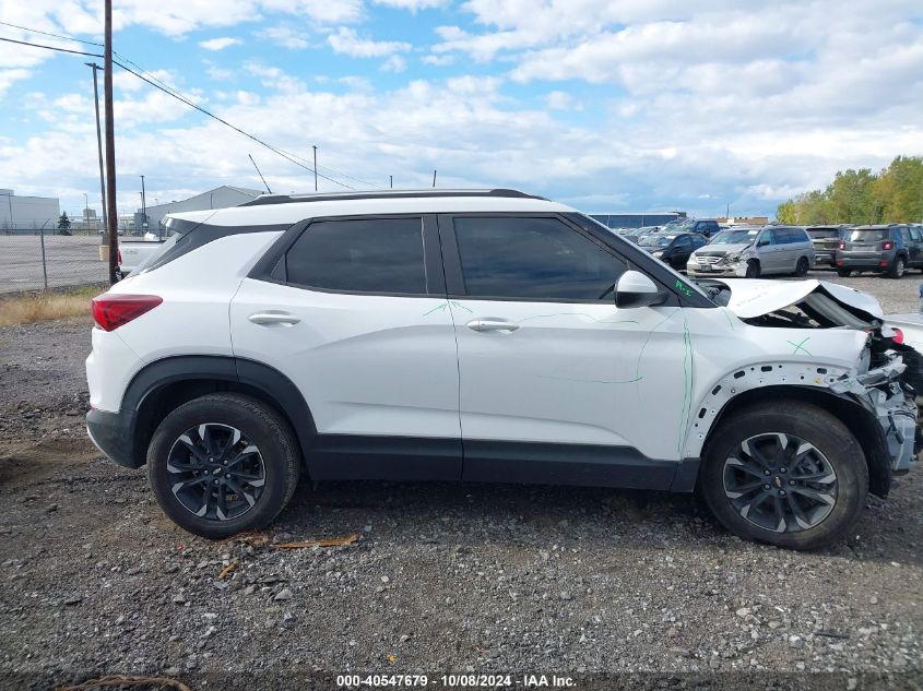
<path fill-rule="evenodd" d="M 426 293 L 421 218 L 320 221 L 285 255 L 288 283 L 347 293 Z"/>

